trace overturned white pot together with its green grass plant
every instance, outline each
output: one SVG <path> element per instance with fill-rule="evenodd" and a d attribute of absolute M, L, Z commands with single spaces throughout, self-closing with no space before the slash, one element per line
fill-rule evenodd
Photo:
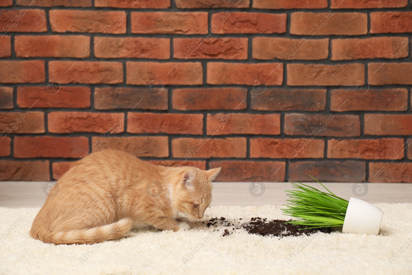
<path fill-rule="evenodd" d="M 288 204 L 285 206 L 288 208 L 282 209 L 282 212 L 297 220 L 288 223 L 307 228 L 343 226 L 342 233 L 378 235 L 383 216 L 381 209 L 354 197 L 349 201 L 342 199 L 320 184 L 328 192 L 303 183 L 292 183 L 296 189 L 286 191 L 291 200 L 286 200 Z"/>

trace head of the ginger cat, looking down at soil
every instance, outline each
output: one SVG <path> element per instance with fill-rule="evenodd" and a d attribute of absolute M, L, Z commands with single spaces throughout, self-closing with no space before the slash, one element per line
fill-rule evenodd
<path fill-rule="evenodd" d="M 189 221 L 203 218 L 206 208 L 212 201 L 212 184 L 220 168 L 203 171 L 194 167 L 182 171 L 173 188 L 173 209 L 178 216 Z"/>

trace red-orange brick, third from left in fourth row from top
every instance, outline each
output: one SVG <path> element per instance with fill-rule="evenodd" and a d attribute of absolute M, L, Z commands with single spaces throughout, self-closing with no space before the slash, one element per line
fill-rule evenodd
<path fill-rule="evenodd" d="M 126 62 L 129 85 L 201 85 L 203 69 L 200 62 Z"/>

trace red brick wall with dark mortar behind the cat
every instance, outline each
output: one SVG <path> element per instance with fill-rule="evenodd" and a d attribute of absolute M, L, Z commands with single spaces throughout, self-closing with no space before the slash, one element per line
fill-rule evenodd
<path fill-rule="evenodd" d="M 410 0 L 0 6 L 0 180 L 118 148 L 218 181 L 412 182 Z"/>

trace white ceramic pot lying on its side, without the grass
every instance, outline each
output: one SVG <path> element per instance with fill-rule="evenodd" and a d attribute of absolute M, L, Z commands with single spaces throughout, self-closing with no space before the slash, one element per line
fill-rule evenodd
<path fill-rule="evenodd" d="M 342 233 L 378 235 L 384 212 L 375 205 L 351 197 Z"/>

